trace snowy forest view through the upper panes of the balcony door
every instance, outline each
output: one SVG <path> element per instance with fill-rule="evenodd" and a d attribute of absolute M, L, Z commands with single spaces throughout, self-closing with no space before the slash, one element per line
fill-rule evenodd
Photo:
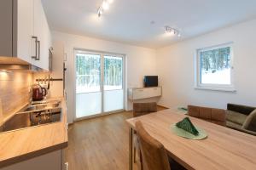
<path fill-rule="evenodd" d="M 77 54 L 76 93 L 100 92 L 101 56 L 97 54 Z M 104 56 L 104 90 L 123 88 L 123 59 Z"/>

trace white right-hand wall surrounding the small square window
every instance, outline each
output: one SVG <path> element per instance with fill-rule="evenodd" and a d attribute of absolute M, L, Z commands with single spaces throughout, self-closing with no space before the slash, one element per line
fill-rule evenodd
<path fill-rule="evenodd" d="M 157 73 L 168 107 L 205 105 L 226 108 L 227 103 L 256 106 L 256 20 L 214 31 L 166 48 L 159 48 Z M 234 42 L 236 93 L 196 90 L 195 50 L 224 42 Z"/>

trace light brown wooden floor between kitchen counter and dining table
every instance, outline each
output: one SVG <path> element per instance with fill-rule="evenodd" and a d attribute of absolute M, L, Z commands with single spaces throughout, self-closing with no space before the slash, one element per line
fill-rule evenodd
<path fill-rule="evenodd" d="M 159 108 L 162 110 L 163 108 Z M 75 122 L 68 130 L 69 170 L 128 170 L 132 112 Z M 138 170 L 139 163 L 135 165 Z"/>

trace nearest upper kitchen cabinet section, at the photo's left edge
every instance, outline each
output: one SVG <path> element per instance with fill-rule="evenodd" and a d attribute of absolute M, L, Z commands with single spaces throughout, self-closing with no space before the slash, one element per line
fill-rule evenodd
<path fill-rule="evenodd" d="M 0 1 L 0 56 L 32 62 L 33 0 Z"/>

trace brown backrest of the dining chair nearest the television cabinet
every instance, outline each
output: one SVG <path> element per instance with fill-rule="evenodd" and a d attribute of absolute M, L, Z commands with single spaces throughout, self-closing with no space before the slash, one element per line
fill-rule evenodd
<path fill-rule="evenodd" d="M 133 116 L 143 116 L 151 112 L 157 111 L 157 105 L 155 102 L 150 103 L 134 103 L 133 104 Z"/>

